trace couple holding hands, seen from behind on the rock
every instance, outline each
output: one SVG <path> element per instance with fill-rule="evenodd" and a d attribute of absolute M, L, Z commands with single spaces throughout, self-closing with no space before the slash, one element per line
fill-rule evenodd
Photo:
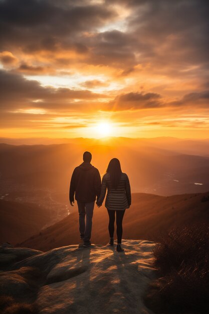
<path fill-rule="evenodd" d="M 87 247 L 91 245 L 92 217 L 96 197 L 97 206 L 102 206 L 107 190 L 105 207 L 109 215 L 109 245 L 114 245 L 113 235 L 116 213 L 117 251 L 124 251 L 121 246 L 122 221 L 125 210 L 131 205 L 131 190 L 128 176 L 122 173 L 119 160 L 113 158 L 107 167 L 101 184 L 99 171 L 91 165 L 91 159 L 91 153 L 85 151 L 83 154 L 83 163 L 75 168 L 70 182 L 70 204 L 73 206 L 75 194 L 79 211 L 80 236 L 84 241 L 83 246 Z"/>

